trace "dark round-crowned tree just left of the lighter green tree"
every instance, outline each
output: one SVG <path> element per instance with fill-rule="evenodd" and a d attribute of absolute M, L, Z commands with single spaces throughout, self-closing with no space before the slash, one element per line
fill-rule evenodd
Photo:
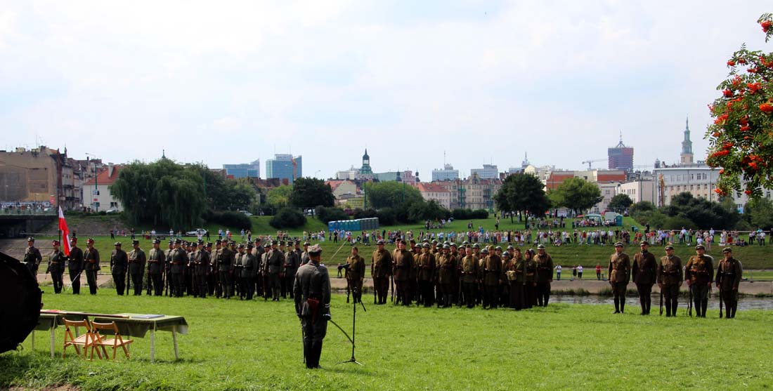
<path fill-rule="evenodd" d="M 494 202 L 499 210 L 523 212 L 526 223 L 529 222 L 529 213 L 543 216 L 550 209 L 543 183 L 530 174 L 508 176 L 494 195 Z"/>

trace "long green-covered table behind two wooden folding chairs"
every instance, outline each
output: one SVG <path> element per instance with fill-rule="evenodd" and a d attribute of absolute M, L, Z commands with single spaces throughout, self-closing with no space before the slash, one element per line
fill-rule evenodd
<path fill-rule="evenodd" d="M 172 331 L 172 342 L 175 348 L 175 359 L 179 359 L 177 346 L 177 333 L 188 334 L 188 322 L 186 318 L 176 315 L 160 314 L 91 314 L 89 312 L 79 311 L 46 311 L 40 312 L 38 324 L 32 330 L 32 348 L 35 348 L 35 330 L 50 331 L 51 335 L 51 358 L 54 357 L 54 345 L 56 338 L 54 329 L 63 325 L 63 318 L 69 320 L 82 320 L 93 317 L 93 321 L 98 323 L 115 322 L 121 335 L 127 338 L 145 338 L 150 331 L 150 361 L 155 361 L 155 331 Z M 77 334 L 77 330 L 76 330 Z"/>

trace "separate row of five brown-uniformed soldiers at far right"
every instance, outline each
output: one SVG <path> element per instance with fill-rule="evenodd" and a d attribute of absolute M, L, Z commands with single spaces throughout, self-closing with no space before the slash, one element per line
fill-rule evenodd
<path fill-rule="evenodd" d="M 706 318 L 709 294 L 712 284 L 720 291 L 720 318 L 724 304 L 725 317 L 735 318 L 738 308 L 738 284 L 743 277 L 741 261 L 733 257 L 733 249 L 725 247 L 723 258 L 714 270 L 713 257 L 707 255 L 706 247 L 699 244 L 695 247 L 695 255 L 691 256 L 685 267 L 682 260 L 674 255 L 674 247 L 666 246 L 666 255 L 656 261 L 655 255 L 649 252 L 649 243 L 639 243 L 641 250 L 634 255 L 633 263 L 628 254 L 623 252 L 623 244 L 615 243 L 615 253 L 609 260 L 609 284 L 615 300 L 615 314 L 625 312 L 625 291 L 628 281 L 633 280 L 638 291 L 642 315 L 649 314 L 652 301 L 652 286 L 658 284 L 661 293 L 661 313 L 665 301 L 666 316 L 676 316 L 679 306 L 679 287 L 686 281 L 689 287 L 690 301 L 688 313 L 692 315 L 693 306 L 696 315 Z"/>

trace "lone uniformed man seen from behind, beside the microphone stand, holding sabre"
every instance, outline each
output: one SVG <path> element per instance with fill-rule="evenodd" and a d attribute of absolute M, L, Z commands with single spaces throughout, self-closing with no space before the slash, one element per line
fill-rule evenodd
<path fill-rule="evenodd" d="M 303 355 L 306 368 L 320 368 L 322 340 L 330 319 L 330 276 L 320 265 L 322 248 L 315 244 L 308 249 L 309 261 L 295 274 L 295 314 L 303 328 Z"/>

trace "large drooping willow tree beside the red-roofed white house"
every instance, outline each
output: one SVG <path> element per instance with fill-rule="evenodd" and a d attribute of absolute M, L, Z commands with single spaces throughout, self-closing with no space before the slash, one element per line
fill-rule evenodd
<path fill-rule="evenodd" d="M 134 224 L 186 230 L 199 226 L 206 208 L 199 168 L 167 158 L 152 163 L 132 162 L 121 170 L 110 191 Z"/>

